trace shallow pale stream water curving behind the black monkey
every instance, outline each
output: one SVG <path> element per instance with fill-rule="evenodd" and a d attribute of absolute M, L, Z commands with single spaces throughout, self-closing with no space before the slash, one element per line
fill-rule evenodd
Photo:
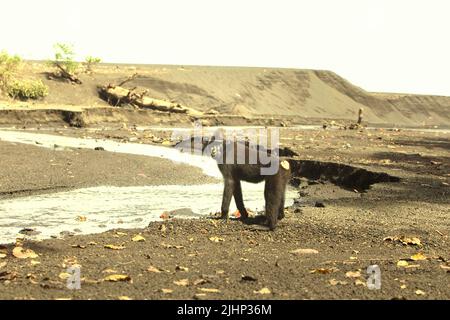
<path fill-rule="evenodd" d="M 206 174 L 220 177 L 215 161 L 175 149 L 110 140 L 82 139 L 18 131 L 0 131 L 0 140 L 40 147 L 89 148 L 156 156 L 193 165 Z M 38 142 L 38 144 L 36 144 Z M 264 184 L 243 183 L 246 207 L 264 209 Z M 58 236 L 62 231 L 80 234 L 98 233 L 113 228 L 142 228 L 160 219 L 164 211 L 190 208 L 194 215 L 208 215 L 220 210 L 222 183 L 205 185 L 166 185 L 144 187 L 93 187 L 72 191 L 0 200 L 0 243 L 13 242 L 22 228 L 40 232 L 34 238 Z M 286 206 L 297 197 L 294 188 L 286 192 Z M 236 210 L 232 202 L 230 212 Z M 77 216 L 86 217 L 80 222 Z M 186 216 L 188 217 L 188 216 Z"/>

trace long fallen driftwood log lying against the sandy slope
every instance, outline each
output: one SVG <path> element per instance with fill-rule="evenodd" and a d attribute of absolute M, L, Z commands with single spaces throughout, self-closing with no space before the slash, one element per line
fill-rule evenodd
<path fill-rule="evenodd" d="M 200 111 L 166 100 L 148 97 L 148 90 L 138 92 L 136 88 L 127 89 L 122 87 L 126 82 L 133 80 L 134 74 L 122 81 L 119 85 L 108 84 L 99 88 L 100 97 L 108 101 L 110 105 L 132 105 L 142 109 L 152 109 L 164 112 L 186 113 L 189 115 L 201 115 Z"/>

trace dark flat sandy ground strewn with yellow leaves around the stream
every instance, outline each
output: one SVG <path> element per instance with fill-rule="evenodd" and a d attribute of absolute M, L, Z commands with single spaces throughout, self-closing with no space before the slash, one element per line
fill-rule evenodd
<path fill-rule="evenodd" d="M 84 129 L 59 131 L 93 135 Z M 114 133 L 118 140 L 145 142 L 154 136 L 164 140 L 167 134 Z M 281 137 L 300 158 L 387 172 L 401 182 L 356 192 L 301 179 L 303 204 L 288 208 L 274 232 L 240 221 L 172 219 L 140 230 L 27 241 L 24 247 L 34 250 L 36 258 L 14 257 L 10 244 L 1 249 L 0 298 L 450 299 L 448 133 L 283 129 Z M 0 168 L 0 190 L 9 197 L 22 195 L 11 194 L 14 190 L 46 192 L 41 189 L 51 185 L 136 185 L 140 173 L 150 177 L 142 184 L 203 179 L 192 168 L 186 180 L 162 176 L 164 171 L 155 168 L 169 172 L 172 165 L 150 158 L 8 143 L 0 148 L 2 163 L 16 168 Z M 51 165 L 51 159 L 61 166 Z M 47 192 L 54 190 L 58 188 Z M 145 240 L 133 241 L 138 234 Z M 111 244 L 123 248 L 105 247 Z M 66 288 L 64 272 L 75 263 L 81 265 L 83 279 L 81 290 L 73 291 Z M 366 284 L 366 269 L 374 264 L 381 270 L 380 290 L 369 290 Z M 114 275 L 122 275 L 122 281 L 109 281 L 118 279 Z"/>

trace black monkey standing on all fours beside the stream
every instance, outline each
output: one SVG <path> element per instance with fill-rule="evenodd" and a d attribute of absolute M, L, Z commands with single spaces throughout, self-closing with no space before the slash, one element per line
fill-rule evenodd
<path fill-rule="evenodd" d="M 286 185 L 291 175 L 289 162 L 280 158 L 272 150 L 259 145 L 251 145 L 248 141 L 216 140 L 215 137 L 212 137 L 210 140 L 203 140 L 202 144 L 203 151 L 206 150 L 205 153 L 211 154 L 217 161 L 223 175 L 224 191 L 221 217 L 228 219 L 231 198 L 234 197 L 241 219 L 245 221 L 248 213 L 242 197 L 241 180 L 251 183 L 265 181 L 266 221 L 268 228 L 274 230 L 278 220 L 284 218 Z M 242 157 L 243 152 L 245 152 L 245 159 L 239 159 L 238 153 Z M 266 161 L 268 158 L 270 163 Z M 249 159 L 253 161 L 249 161 Z M 273 167 L 274 165 L 275 167 Z M 264 168 L 266 174 L 263 174 Z"/>

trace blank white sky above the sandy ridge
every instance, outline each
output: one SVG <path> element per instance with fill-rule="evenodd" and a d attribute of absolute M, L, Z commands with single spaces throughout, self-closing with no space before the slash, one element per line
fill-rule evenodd
<path fill-rule="evenodd" d="M 450 96 L 447 0 L 0 0 L 0 50 L 46 59 L 56 42 L 105 62 L 328 69 Z"/>

